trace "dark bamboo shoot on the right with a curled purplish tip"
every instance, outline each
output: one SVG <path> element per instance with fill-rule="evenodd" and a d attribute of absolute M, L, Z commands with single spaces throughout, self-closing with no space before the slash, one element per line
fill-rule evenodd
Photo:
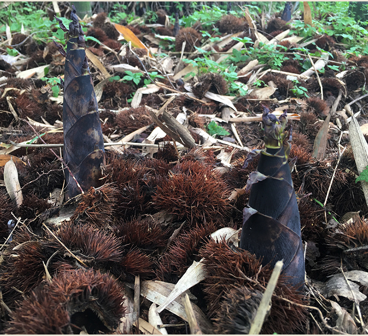
<path fill-rule="evenodd" d="M 296 195 L 291 180 L 288 156 L 291 132 L 285 131 L 286 114 L 277 118 L 264 108 L 265 149 L 249 153 L 243 168 L 260 156 L 258 170 L 249 174 L 248 207 L 243 210 L 239 246 L 263 258 L 273 267 L 284 261 L 283 273 L 291 285 L 304 287 L 304 255 Z"/>

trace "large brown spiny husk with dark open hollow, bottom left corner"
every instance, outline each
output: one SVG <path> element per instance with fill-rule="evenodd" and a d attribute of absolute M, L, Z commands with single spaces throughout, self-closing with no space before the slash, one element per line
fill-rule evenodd
<path fill-rule="evenodd" d="M 123 289 L 109 275 L 93 269 L 65 271 L 25 299 L 7 333 L 75 334 L 83 326 L 89 334 L 112 331 L 125 313 L 123 302 Z"/>

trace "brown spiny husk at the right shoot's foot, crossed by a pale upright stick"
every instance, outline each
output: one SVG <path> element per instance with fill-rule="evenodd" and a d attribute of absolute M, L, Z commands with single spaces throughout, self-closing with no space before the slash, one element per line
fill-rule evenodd
<path fill-rule="evenodd" d="M 246 287 L 250 291 L 264 288 L 271 276 L 272 270 L 267 266 L 261 266 L 260 260 L 249 252 L 228 245 L 224 241 L 209 241 L 199 252 L 204 259 L 208 277 L 204 280 L 206 299 L 208 302 L 208 315 L 226 319 L 220 316 L 221 304 L 230 285 Z M 251 280 L 247 280 L 246 277 Z M 257 279 L 257 280 L 256 280 Z M 307 310 L 300 306 L 290 305 L 289 301 L 305 304 L 304 296 L 291 288 L 285 282 L 285 277 L 280 276 L 275 288 L 275 296 L 272 297 L 272 306 L 268 318 L 264 321 L 262 333 L 294 334 L 304 330 L 307 319 Z M 227 324 L 227 323 L 225 323 Z"/>

